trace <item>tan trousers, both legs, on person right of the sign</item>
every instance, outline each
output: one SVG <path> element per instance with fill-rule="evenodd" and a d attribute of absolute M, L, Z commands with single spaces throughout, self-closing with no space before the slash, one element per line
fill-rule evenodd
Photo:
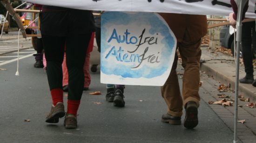
<path fill-rule="evenodd" d="M 186 105 L 186 103 L 189 101 L 195 101 L 197 106 L 199 106 L 200 96 L 198 91 L 200 87 L 200 44 L 201 38 L 194 42 L 187 42 L 186 36 L 183 38 L 181 43 L 177 43 L 177 47 L 182 57 L 182 67 L 184 68 L 182 79 L 182 96 L 180 93 L 179 81 L 176 73 L 178 62 L 177 53 L 175 53 L 175 60 L 171 69 L 171 73 L 164 86 L 161 87 L 162 97 L 168 106 L 168 114 L 172 116 L 182 116 L 182 103 L 183 105 Z"/>

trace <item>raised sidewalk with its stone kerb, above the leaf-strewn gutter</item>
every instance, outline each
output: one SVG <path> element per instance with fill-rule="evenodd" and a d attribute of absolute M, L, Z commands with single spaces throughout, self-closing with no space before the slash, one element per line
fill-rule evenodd
<path fill-rule="evenodd" d="M 202 47 L 201 59 L 205 62 L 201 63 L 201 70 L 208 75 L 212 75 L 214 79 L 220 83 L 235 90 L 236 85 L 236 63 L 235 58 L 225 55 L 221 52 L 212 52 L 209 47 Z M 245 76 L 243 64 L 239 64 L 239 79 Z M 243 94 L 249 98 L 251 102 L 256 101 L 256 87 L 251 84 L 239 83 L 239 95 Z"/>

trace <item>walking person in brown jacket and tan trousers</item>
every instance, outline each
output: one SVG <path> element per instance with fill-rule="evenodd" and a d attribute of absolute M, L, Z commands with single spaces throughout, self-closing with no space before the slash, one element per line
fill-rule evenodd
<path fill-rule="evenodd" d="M 207 19 L 205 15 L 174 13 L 160 13 L 160 15 L 174 32 L 184 68 L 181 96 L 176 73 L 178 56 L 175 53 L 170 75 L 161 87 L 162 97 L 168 107 L 167 114 L 162 115 L 162 122 L 181 124 L 182 106 L 184 106 L 186 110 L 184 127 L 195 128 L 198 124 L 197 108 L 200 100 L 200 45 L 202 37 L 207 34 Z"/>

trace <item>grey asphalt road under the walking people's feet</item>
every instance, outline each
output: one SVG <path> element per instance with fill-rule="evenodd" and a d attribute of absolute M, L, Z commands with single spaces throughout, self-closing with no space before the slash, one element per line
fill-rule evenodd
<path fill-rule="evenodd" d="M 106 87 L 100 83 L 99 70 L 91 73 L 89 91 L 83 92 L 78 128 L 65 129 L 63 118 L 57 124 L 48 124 L 45 117 L 50 111 L 51 97 L 46 72 L 33 67 L 34 56 L 20 59 L 19 64 L 20 76 L 15 76 L 15 60 L 0 65 L 1 69 L 6 69 L 0 70 L 1 143 L 233 142 L 233 132 L 203 100 L 200 101 L 199 124 L 195 129 L 183 127 L 184 116 L 182 125 L 162 123 L 161 116 L 167 109 L 160 87 L 126 86 L 125 107 L 114 107 L 105 101 Z M 101 91 L 102 94 L 89 94 L 94 91 Z M 30 122 L 25 122 L 25 119 Z"/>

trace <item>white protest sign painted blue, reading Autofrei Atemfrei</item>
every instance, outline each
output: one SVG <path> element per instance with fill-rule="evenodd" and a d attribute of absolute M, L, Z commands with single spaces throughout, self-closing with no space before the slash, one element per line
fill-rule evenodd
<path fill-rule="evenodd" d="M 175 50 L 176 38 L 157 13 L 101 15 L 101 83 L 162 86 Z"/>

